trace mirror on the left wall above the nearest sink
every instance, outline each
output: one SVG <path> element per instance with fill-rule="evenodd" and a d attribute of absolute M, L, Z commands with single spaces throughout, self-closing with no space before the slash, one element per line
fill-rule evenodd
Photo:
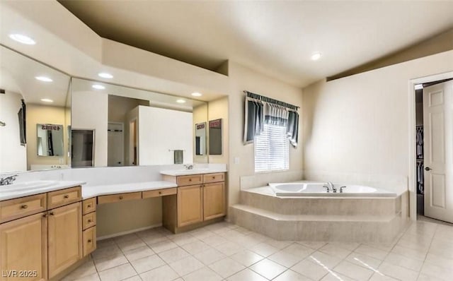
<path fill-rule="evenodd" d="M 0 46 L 0 172 L 69 167 L 70 77 Z"/>

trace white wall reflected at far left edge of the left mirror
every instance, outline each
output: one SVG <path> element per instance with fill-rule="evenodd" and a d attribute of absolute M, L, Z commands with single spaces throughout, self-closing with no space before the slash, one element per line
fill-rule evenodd
<path fill-rule="evenodd" d="M 22 106 L 22 95 L 16 92 L 0 94 L 0 171 L 13 172 L 27 169 L 27 149 L 21 145 L 18 111 Z M 35 137 L 35 136 L 27 136 Z"/>

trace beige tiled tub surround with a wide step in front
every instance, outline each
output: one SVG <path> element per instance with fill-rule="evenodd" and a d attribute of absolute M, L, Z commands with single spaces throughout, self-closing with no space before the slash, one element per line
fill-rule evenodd
<path fill-rule="evenodd" d="M 241 191 L 231 222 L 277 240 L 391 242 L 408 225 L 408 193 L 374 198 L 279 198 Z"/>

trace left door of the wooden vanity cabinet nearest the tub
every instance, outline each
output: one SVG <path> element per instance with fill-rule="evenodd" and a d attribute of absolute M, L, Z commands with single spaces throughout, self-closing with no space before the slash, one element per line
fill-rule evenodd
<path fill-rule="evenodd" d="M 178 187 L 178 227 L 202 220 L 202 185 Z"/>

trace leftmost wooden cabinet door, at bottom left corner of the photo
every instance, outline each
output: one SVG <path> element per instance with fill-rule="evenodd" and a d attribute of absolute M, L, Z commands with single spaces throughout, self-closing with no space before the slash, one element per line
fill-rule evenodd
<path fill-rule="evenodd" d="M 44 214 L 0 225 L 1 281 L 46 279 L 47 220 Z"/>

